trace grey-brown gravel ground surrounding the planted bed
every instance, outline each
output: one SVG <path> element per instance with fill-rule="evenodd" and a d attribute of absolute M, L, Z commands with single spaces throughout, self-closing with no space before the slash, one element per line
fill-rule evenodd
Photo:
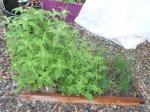
<path fill-rule="evenodd" d="M 1 17 L 0 17 L 1 18 Z M 76 26 L 78 27 L 78 26 Z M 116 105 L 73 105 L 52 104 L 49 102 L 20 101 L 15 93 L 16 83 L 10 78 L 13 73 L 6 71 L 9 65 L 8 56 L 3 41 L 3 28 L 0 29 L 0 112 L 150 112 L 150 44 L 145 42 L 135 50 L 124 50 L 122 47 L 98 38 L 93 34 L 78 27 L 82 35 L 90 37 L 90 41 L 98 42 L 99 46 L 105 46 L 109 55 L 121 53 L 130 56 L 134 60 L 133 77 L 136 79 L 137 89 L 146 99 L 141 106 L 116 106 Z M 113 54 L 112 54 L 113 53 Z"/>

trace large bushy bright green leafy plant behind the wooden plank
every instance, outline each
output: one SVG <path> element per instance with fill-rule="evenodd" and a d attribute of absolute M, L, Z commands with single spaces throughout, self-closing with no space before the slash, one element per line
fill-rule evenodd
<path fill-rule="evenodd" d="M 4 18 L 11 70 L 18 73 L 13 79 L 19 91 L 57 87 L 61 94 L 92 99 L 93 94 L 107 90 L 101 52 L 92 53 L 88 42 L 63 21 L 66 11 L 16 11 L 21 15 Z"/>

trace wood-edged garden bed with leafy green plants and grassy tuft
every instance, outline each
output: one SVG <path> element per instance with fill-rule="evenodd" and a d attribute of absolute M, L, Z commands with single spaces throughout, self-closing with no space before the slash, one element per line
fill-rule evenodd
<path fill-rule="evenodd" d="M 82 101 L 116 105 L 143 103 L 141 98 L 99 97 L 108 88 L 127 90 L 130 83 L 130 66 L 126 58 L 119 56 L 111 60 L 110 57 L 102 57 L 103 53 L 99 51 L 102 48 L 93 51 L 90 43 L 78 37 L 76 29 L 57 18 L 63 17 L 61 12 L 45 12 L 29 8 L 22 10 L 22 13 L 20 19 L 12 21 L 11 18 L 6 19 L 7 48 L 11 70 L 18 73 L 13 78 L 18 83 L 18 90 L 39 91 L 41 88 L 48 90 L 49 87 L 55 87 L 57 92 L 67 96 L 24 93 L 21 95 L 22 98 L 40 100 L 42 97 L 46 100 L 47 97 L 50 99 L 55 97 L 53 101 L 60 99 L 64 103 L 69 103 L 65 98 L 75 99 L 73 103 Z M 38 17 L 34 14 L 38 14 Z M 84 96 L 88 100 L 73 95 Z M 128 102 L 129 100 L 131 102 Z"/>

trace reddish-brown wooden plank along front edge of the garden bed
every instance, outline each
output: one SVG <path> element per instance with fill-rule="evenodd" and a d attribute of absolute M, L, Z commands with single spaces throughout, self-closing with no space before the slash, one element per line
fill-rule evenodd
<path fill-rule="evenodd" d="M 102 104 L 102 105 L 122 105 L 138 106 L 145 101 L 137 97 L 118 97 L 118 96 L 94 96 L 92 101 L 86 100 L 82 96 L 61 96 L 58 93 L 22 93 L 21 100 L 48 101 L 52 103 L 70 104 Z"/>

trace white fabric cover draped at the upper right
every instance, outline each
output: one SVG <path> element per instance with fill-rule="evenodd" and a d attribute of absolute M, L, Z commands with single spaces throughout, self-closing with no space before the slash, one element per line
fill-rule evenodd
<path fill-rule="evenodd" d="M 75 22 L 126 49 L 150 41 L 150 0 L 86 0 Z"/>

